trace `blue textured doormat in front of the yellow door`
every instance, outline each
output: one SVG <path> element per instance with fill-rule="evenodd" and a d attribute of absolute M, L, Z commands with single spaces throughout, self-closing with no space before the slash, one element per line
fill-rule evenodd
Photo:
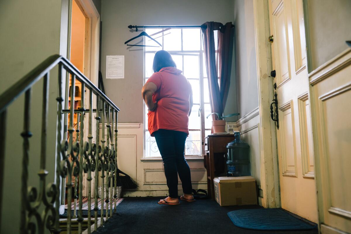
<path fill-rule="evenodd" d="M 228 212 L 234 225 L 253 230 L 310 230 L 310 225 L 282 209 L 241 209 Z"/>

